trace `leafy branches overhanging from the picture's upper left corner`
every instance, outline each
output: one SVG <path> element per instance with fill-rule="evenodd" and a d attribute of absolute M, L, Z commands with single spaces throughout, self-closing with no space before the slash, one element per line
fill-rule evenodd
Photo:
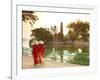
<path fill-rule="evenodd" d="M 34 11 L 22 11 L 22 21 L 26 22 L 27 20 L 30 20 L 30 24 L 34 24 L 36 20 L 38 20 L 38 17 L 34 14 Z"/>

